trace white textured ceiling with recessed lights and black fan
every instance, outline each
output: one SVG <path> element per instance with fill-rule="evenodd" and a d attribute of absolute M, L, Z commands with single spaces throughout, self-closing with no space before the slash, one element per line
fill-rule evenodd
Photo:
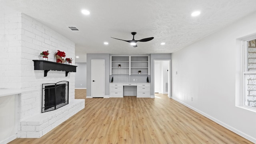
<path fill-rule="evenodd" d="M 76 43 L 76 62 L 87 53 L 172 53 L 256 11 L 256 0 L 0 0 Z M 81 13 L 82 9 L 90 15 Z M 190 14 L 200 10 L 201 14 Z M 67 26 L 76 26 L 71 31 Z M 149 42 L 135 40 L 154 37 Z M 108 42 L 106 46 L 103 42 Z M 166 45 L 160 45 L 165 42 Z"/>

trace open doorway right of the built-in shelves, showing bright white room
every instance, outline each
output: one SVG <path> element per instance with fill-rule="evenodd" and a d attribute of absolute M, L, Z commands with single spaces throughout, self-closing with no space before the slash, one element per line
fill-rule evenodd
<path fill-rule="evenodd" d="M 170 60 L 154 60 L 154 93 L 170 98 Z"/>

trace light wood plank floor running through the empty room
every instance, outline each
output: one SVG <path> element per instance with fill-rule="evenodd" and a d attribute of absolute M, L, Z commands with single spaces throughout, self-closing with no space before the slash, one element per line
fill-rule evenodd
<path fill-rule="evenodd" d="M 86 98 L 85 108 L 41 138 L 10 144 L 253 144 L 164 94 Z M 75 90 L 85 98 L 86 90 Z"/>

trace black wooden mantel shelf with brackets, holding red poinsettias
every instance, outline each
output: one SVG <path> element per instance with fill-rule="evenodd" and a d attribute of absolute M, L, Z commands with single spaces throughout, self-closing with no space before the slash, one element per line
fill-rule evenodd
<path fill-rule="evenodd" d="M 44 70 L 44 76 L 47 76 L 47 73 L 50 70 L 66 71 L 66 76 L 69 72 L 76 72 L 77 66 L 72 66 L 68 64 L 61 64 L 57 62 L 50 62 L 48 60 L 33 60 L 34 61 L 34 70 Z"/>

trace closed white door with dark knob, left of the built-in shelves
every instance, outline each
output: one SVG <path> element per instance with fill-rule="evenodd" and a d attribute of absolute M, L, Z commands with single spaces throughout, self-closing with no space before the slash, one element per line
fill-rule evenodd
<path fill-rule="evenodd" d="M 92 97 L 105 95 L 105 60 L 92 60 Z"/>

